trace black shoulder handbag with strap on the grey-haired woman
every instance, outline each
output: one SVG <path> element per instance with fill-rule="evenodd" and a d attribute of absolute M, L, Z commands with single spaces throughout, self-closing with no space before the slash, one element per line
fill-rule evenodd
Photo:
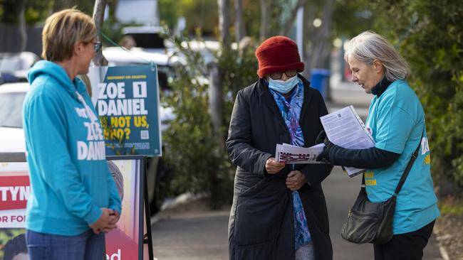
<path fill-rule="evenodd" d="M 418 156 L 420 145 L 421 139 L 389 200 L 378 203 L 370 202 L 365 191 L 365 175 L 363 175 L 360 193 L 350 208 L 348 218 L 340 233 L 343 239 L 357 244 L 385 244 L 392 239 L 392 218 L 394 217 L 397 194 Z"/>

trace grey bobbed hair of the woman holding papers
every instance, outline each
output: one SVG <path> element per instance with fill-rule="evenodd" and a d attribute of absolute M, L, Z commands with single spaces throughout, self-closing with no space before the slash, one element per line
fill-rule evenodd
<path fill-rule="evenodd" d="M 344 60 L 348 63 L 353 57 L 366 65 L 380 60 L 389 81 L 403 80 L 410 75 L 410 67 L 402 56 L 383 36 L 373 31 L 364 31 L 352 38 L 345 48 Z"/>

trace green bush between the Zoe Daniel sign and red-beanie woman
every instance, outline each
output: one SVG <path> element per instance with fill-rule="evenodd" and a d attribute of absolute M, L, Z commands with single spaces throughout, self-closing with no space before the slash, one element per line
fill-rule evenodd
<path fill-rule="evenodd" d="M 224 99 L 224 124 L 216 134 L 209 114 L 207 81 L 210 79 L 204 57 L 199 50 L 182 45 L 187 39 L 170 40 L 179 50 L 177 55 L 186 60 L 175 67 L 177 77 L 171 84 L 173 93 L 164 97 L 164 102 L 175 113 L 175 120 L 163 136 L 164 156 L 174 173 L 171 190 L 206 194 L 210 206 L 217 208 L 224 202 L 231 202 L 234 166 L 229 161 L 224 141 L 236 92 L 256 80 L 256 61 L 251 51 L 254 45 L 242 50 L 222 47 L 215 53 Z"/>

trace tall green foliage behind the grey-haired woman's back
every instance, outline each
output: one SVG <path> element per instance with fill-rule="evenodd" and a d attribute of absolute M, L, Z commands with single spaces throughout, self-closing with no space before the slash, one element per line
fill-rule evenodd
<path fill-rule="evenodd" d="M 412 68 L 426 112 L 437 185 L 463 190 L 463 2 L 378 1 L 378 32 L 394 39 Z M 380 13 L 380 12 L 378 12 Z"/>

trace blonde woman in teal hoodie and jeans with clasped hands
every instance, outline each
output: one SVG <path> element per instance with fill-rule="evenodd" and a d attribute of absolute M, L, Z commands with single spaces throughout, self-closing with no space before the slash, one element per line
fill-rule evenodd
<path fill-rule="evenodd" d="M 120 197 L 105 160 L 103 129 L 76 77 L 101 48 L 90 16 L 53 13 L 42 33 L 45 60 L 34 65 L 24 101 L 31 176 L 26 242 L 34 259 L 103 259 Z"/>

